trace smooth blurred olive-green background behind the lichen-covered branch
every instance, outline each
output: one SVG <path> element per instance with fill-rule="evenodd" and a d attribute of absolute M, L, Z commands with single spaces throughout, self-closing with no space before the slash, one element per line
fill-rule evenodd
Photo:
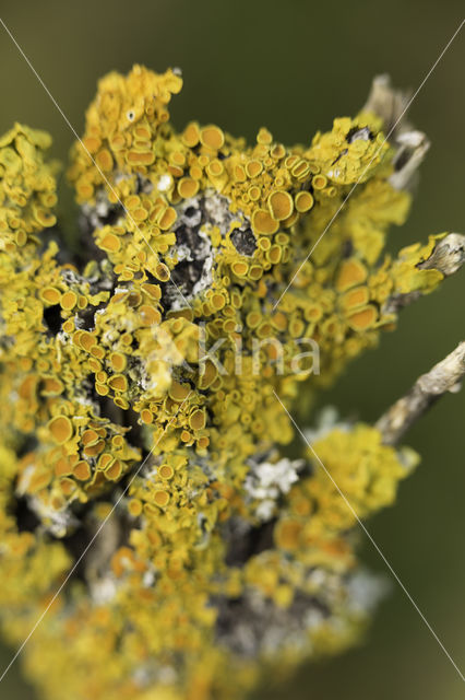
<path fill-rule="evenodd" d="M 335 116 L 363 104 L 373 75 L 416 90 L 463 19 L 463 2 L 379 0 L 80 0 L 2 2 L 2 19 L 78 132 L 97 79 L 133 62 L 182 68 L 184 89 L 171 105 L 177 127 L 190 118 L 253 139 L 266 125 L 284 143 L 308 142 Z M 391 249 L 429 233 L 465 230 L 465 28 L 410 109 L 432 141 L 407 224 Z M 0 132 L 14 120 L 53 135 L 64 160 L 73 136 L 0 27 Z M 327 234 L 331 235 L 331 232 Z M 322 397 L 342 415 L 378 416 L 463 339 L 465 273 L 405 310 L 398 330 L 349 368 Z M 454 661 L 465 666 L 465 390 L 442 399 L 408 434 L 422 454 L 398 501 L 368 523 L 379 547 Z M 363 541 L 363 540 L 362 540 Z M 385 572 L 363 541 L 361 557 Z M 0 650 L 1 666 L 11 651 Z M 0 689 L 32 700 L 16 663 Z M 463 698 L 457 672 L 402 590 L 381 606 L 359 649 L 306 667 L 269 700 Z M 67 697 L 63 688 L 63 699 Z"/>

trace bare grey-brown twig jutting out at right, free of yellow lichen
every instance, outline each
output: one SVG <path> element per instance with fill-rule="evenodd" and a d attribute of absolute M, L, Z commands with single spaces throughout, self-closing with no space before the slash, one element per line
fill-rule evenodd
<path fill-rule="evenodd" d="M 410 425 L 418 420 L 441 396 L 460 389 L 465 376 L 465 341 L 461 342 L 444 360 L 422 374 L 404 397 L 398 399 L 375 424 L 383 443 L 395 445 Z"/>

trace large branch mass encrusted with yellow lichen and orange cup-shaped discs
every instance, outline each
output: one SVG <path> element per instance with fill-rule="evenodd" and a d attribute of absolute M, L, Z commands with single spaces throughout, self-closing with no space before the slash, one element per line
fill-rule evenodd
<path fill-rule="evenodd" d="M 275 394 L 314 397 L 463 261 L 457 234 L 384 253 L 428 148 L 385 78 L 293 147 L 177 131 L 181 88 L 99 81 L 68 170 L 79 255 L 50 138 L 0 138 L 0 626 L 49 700 L 237 700 L 264 663 L 359 639 L 380 586 L 354 513 L 393 503 L 405 460 L 370 425 L 315 435 L 348 510 L 286 455 Z"/>

